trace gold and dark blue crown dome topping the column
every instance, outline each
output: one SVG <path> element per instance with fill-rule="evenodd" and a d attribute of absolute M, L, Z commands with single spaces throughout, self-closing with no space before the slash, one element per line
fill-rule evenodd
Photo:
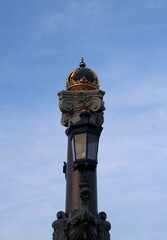
<path fill-rule="evenodd" d="M 99 88 L 99 80 L 96 73 L 86 67 L 84 59 L 81 59 L 79 68 L 69 73 L 66 79 L 66 88 L 69 91 L 96 90 Z"/>

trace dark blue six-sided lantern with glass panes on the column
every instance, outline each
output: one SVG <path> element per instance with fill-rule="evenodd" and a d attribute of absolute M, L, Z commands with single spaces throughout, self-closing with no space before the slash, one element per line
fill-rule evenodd
<path fill-rule="evenodd" d="M 72 142 L 74 170 L 95 170 L 99 137 L 102 127 L 97 125 L 89 112 L 81 112 L 81 120 L 71 125 L 67 131 Z"/>

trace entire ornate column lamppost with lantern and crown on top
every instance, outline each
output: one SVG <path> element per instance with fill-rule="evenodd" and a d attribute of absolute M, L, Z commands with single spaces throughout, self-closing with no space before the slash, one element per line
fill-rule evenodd
<path fill-rule="evenodd" d="M 82 58 L 79 68 L 66 80 L 67 90 L 58 93 L 62 125 L 68 137 L 66 210 L 57 213 L 52 224 L 53 240 L 109 240 L 110 223 L 97 207 L 97 155 L 102 131 L 104 92 L 97 75 L 86 68 Z"/>

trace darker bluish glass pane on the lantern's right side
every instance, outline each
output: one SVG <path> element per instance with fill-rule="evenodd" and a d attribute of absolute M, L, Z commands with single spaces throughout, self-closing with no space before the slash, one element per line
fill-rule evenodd
<path fill-rule="evenodd" d="M 88 134 L 88 158 L 97 160 L 98 136 Z"/>

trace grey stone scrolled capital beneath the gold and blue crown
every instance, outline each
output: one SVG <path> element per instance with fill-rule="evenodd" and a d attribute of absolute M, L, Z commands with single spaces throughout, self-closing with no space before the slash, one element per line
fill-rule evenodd
<path fill-rule="evenodd" d="M 81 111 L 90 112 L 96 124 L 103 124 L 103 111 L 105 110 L 102 90 L 89 91 L 61 91 L 59 108 L 62 112 L 61 124 L 68 127 L 79 121 Z"/>

